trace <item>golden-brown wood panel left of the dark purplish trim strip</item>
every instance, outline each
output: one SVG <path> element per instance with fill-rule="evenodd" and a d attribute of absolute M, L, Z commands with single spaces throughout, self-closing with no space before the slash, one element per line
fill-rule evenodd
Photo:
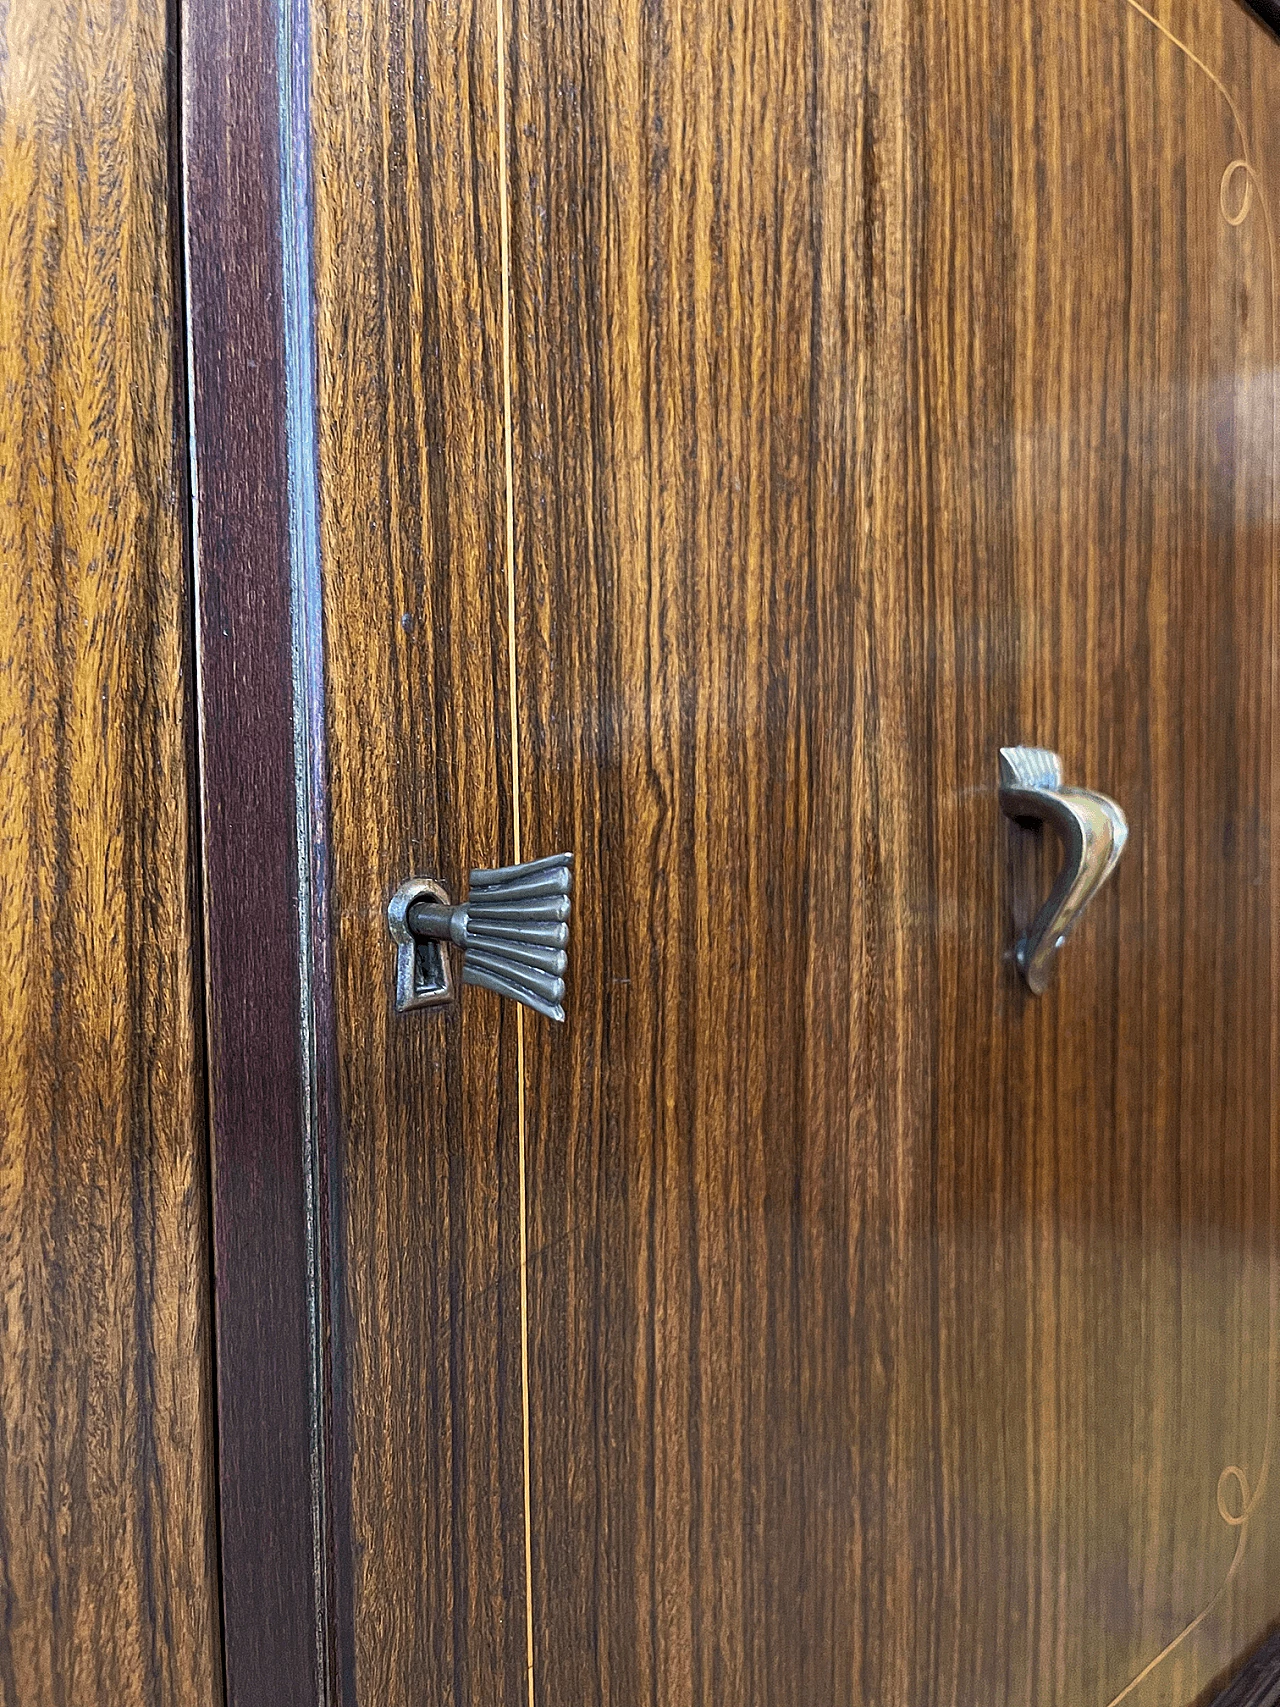
<path fill-rule="evenodd" d="M 0 1700 L 212 1707 L 172 20 L 0 38 Z"/>

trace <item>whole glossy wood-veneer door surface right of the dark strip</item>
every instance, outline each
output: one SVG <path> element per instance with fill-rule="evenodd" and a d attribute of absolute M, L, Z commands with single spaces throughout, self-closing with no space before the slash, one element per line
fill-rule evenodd
<path fill-rule="evenodd" d="M 312 31 L 348 1698 L 1198 1698 L 1280 1615 L 1280 48 Z M 1041 999 L 1009 744 L 1130 823 Z M 563 1031 L 396 1019 L 396 883 L 560 847 Z"/>

